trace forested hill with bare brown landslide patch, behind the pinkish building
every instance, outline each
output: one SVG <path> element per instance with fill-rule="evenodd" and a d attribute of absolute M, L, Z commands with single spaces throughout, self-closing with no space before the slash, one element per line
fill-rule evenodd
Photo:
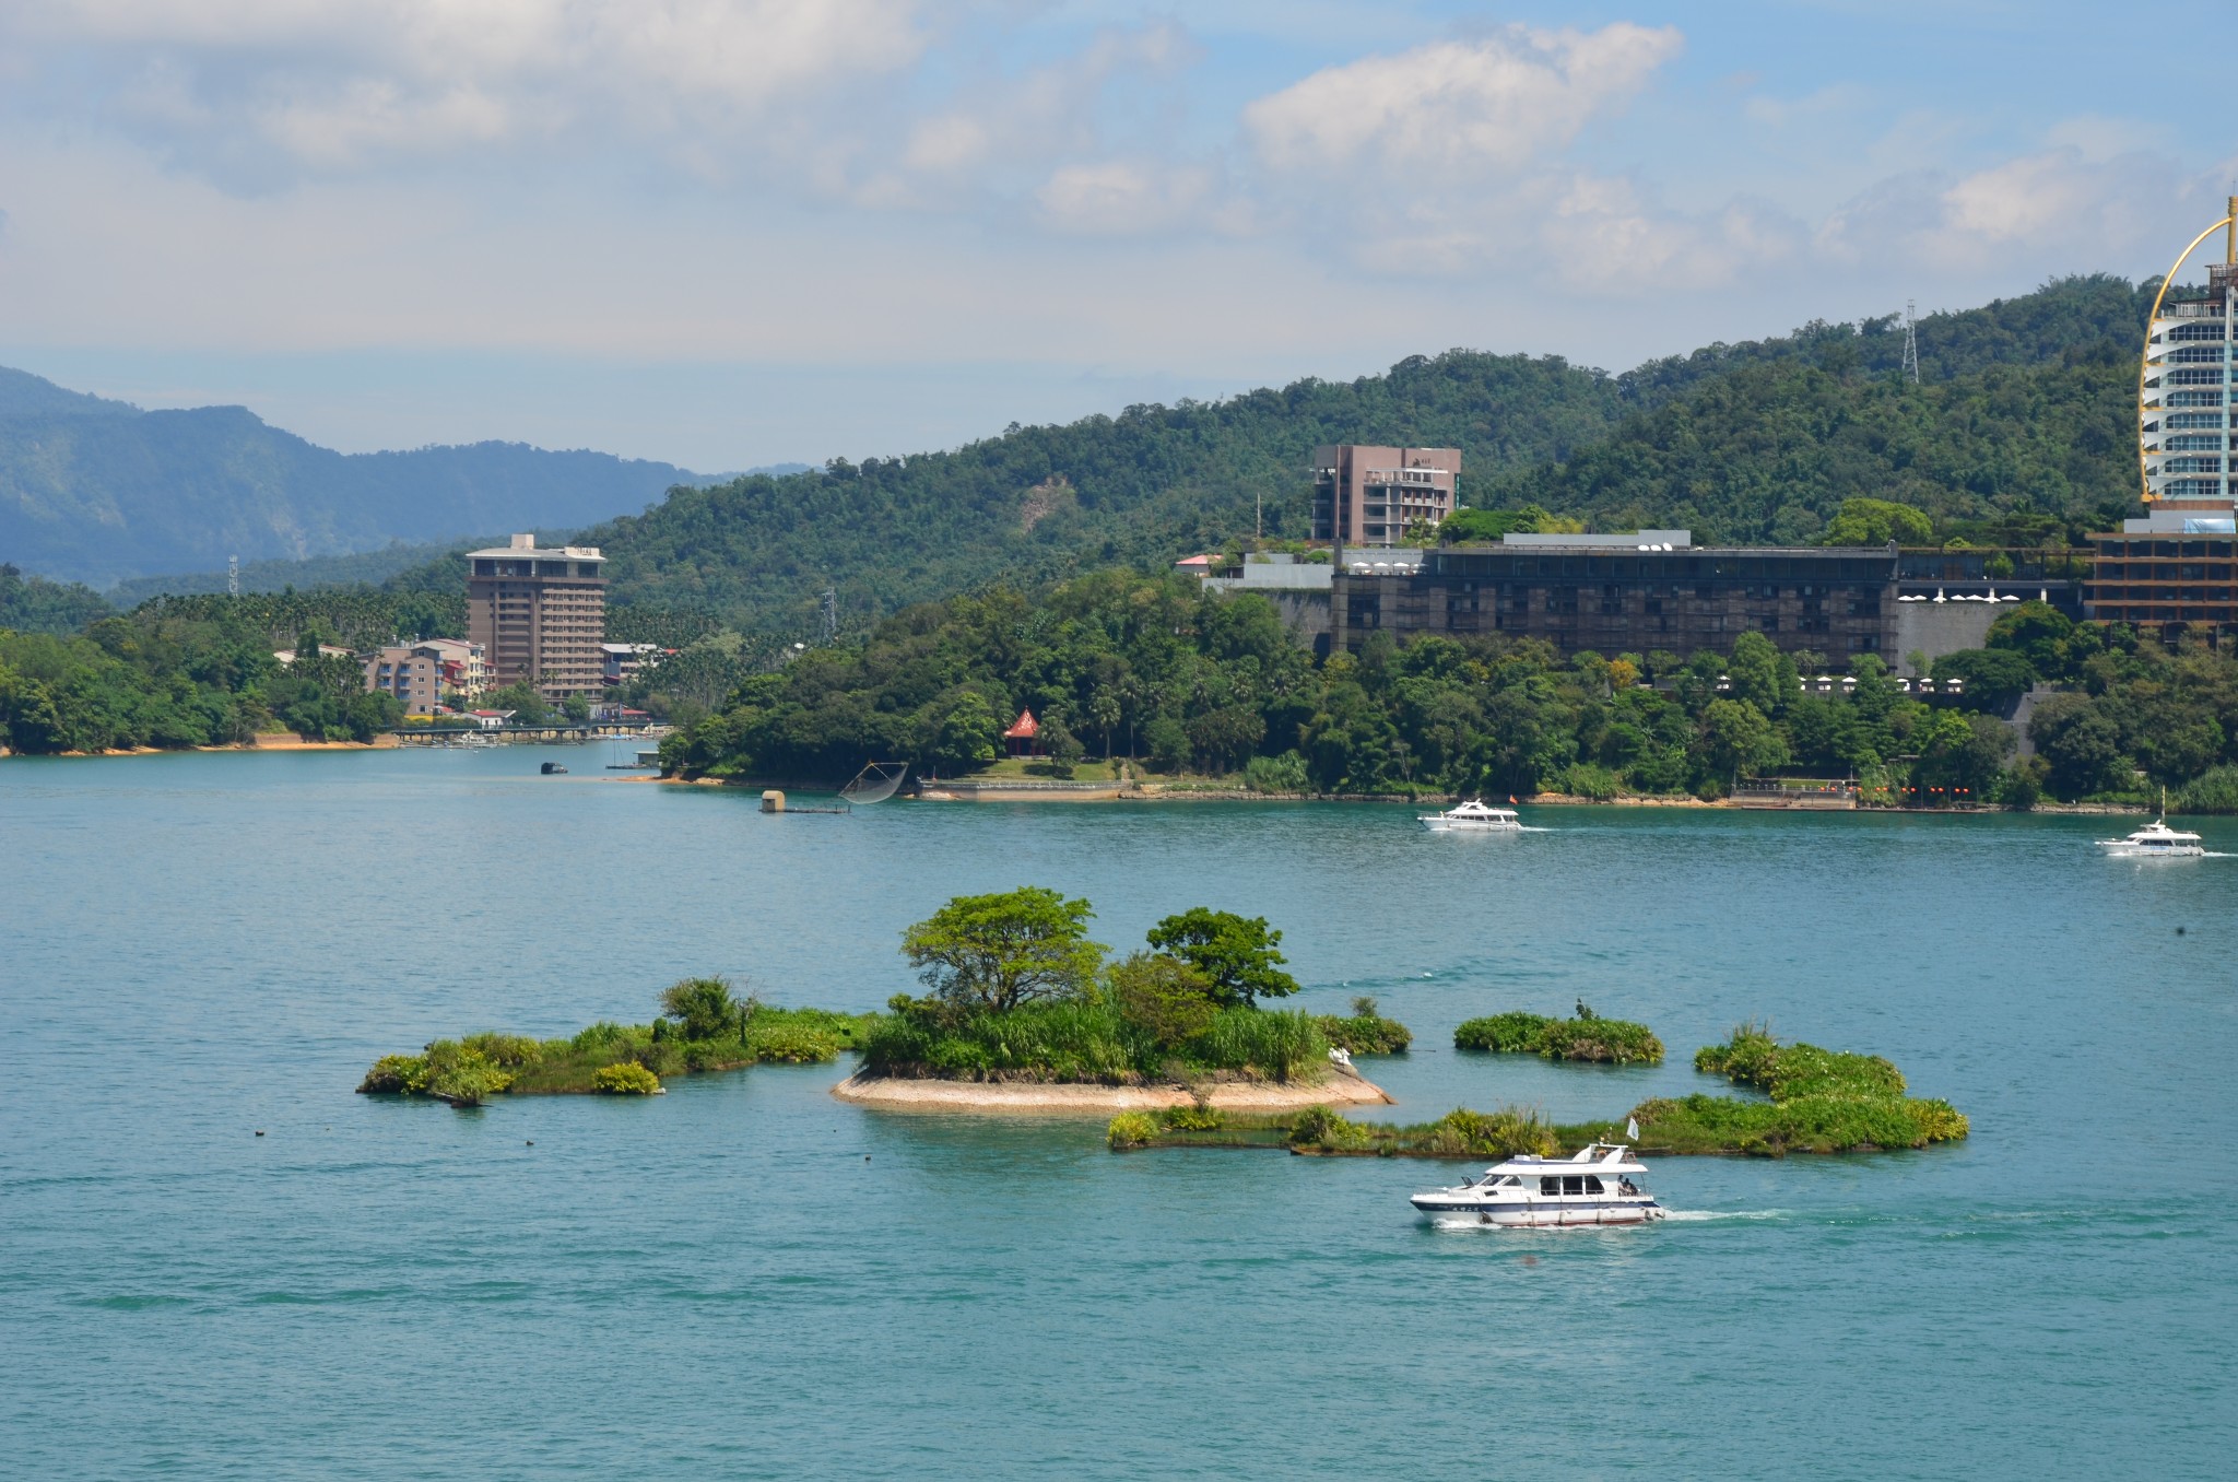
<path fill-rule="evenodd" d="M 1350 383 L 1012 425 L 953 452 L 676 490 L 582 540 L 613 557 L 620 602 L 788 631 L 826 587 L 853 620 L 996 578 L 1164 566 L 1249 535 L 1256 499 L 1267 535 L 1303 537 L 1316 443 L 1459 443 L 1470 468 L 1520 466 L 1569 457 L 1620 416 L 1623 392 L 1600 372 L 1452 351 Z"/>

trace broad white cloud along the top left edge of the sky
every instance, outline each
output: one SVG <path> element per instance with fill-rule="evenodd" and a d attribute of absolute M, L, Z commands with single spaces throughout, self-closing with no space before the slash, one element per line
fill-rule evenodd
<path fill-rule="evenodd" d="M 920 0 L 27 0 L 0 34 L 123 72 L 114 119 L 239 172 L 345 172 L 577 132 L 752 148 L 929 45 Z"/>

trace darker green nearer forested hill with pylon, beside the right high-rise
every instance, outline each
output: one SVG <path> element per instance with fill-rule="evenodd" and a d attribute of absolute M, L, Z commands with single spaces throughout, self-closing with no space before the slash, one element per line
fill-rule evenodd
<path fill-rule="evenodd" d="M 1940 522 L 2104 528 L 2137 486 L 2137 345 L 2151 284 L 2086 278 L 1920 325 L 1811 329 L 1772 347 L 1640 367 L 1670 387 L 1607 439 L 1482 479 L 1591 528 L 1663 524 L 1696 540 L 1811 544 L 1851 497 Z"/>

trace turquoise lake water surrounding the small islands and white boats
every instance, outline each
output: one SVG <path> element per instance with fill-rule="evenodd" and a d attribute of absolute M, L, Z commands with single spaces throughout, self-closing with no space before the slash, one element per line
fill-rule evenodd
<path fill-rule="evenodd" d="M 575 772 L 535 777 L 553 754 Z M 9 1475 L 2222 1469 L 2238 860 L 2108 862 L 2106 822 L 2034 817 L 765 817 L 602 761 L 0 761 Z M 1444 1234 L 1405 1195 L 1457 1164 L 1119 1157 L 1097 1122 L 841 1106 L 841 1068 L 351 1095 L 439 1034 L 642 1021 L 687 972 L 875 1007 L 902 925 L 1021 882 L 1115 945 L 1273 918 L 1305 1003 L 1414 1028 L 1367 1063 L 1405 1119 L 1708 1090 L 1692 1048 L 1768 1016 L 1974 1137 L 1661 1160 L 1661 1227 Z M 1672 1063 L 1441 1048 L 1580 996 Z"/>

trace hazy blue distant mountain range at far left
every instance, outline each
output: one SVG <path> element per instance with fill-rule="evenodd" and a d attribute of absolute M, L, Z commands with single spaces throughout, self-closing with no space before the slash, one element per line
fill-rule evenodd
<path fill-rule="evenodd" d="M 342 454 L 244 407 L 141 412 L 0 369 L 0 560 L 121 578 L 571 528 L 696 475 L 524 443 Z"/>

